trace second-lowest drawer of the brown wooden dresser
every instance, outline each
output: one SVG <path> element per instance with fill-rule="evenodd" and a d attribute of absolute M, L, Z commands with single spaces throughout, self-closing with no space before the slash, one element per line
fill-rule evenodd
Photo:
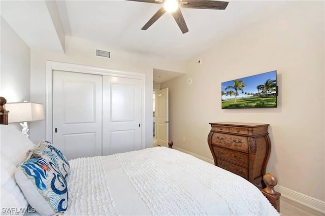
<path fill-rule="evenodd" d="M 226 158 L 229 160 L 233 160 L 248 167 L 248 155 L 234 152 L 231 150 L 222 149 L 217 146 L 212 146 L 212 148 L 217 158 Z"/>

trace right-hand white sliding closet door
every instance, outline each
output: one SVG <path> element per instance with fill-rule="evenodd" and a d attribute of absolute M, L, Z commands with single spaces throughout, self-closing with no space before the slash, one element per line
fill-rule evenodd
<path fill-rule="evenodd" d="M 141 84 L 103 76 L 103 155 L 141 149 Z"/>

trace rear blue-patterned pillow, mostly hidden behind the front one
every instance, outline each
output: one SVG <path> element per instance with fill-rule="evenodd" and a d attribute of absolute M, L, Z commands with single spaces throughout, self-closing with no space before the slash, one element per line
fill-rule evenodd
<path fill-rule="evenodd" d="M 37 147 L 37 150 L 41 151 L 51 158 L 52 162 L 59 168 L 65 178 L 68 177 L 70 171 L 70 164 L 66 157 L 60 150 L 54 147 L 51 142 L 42 140 Z"/>

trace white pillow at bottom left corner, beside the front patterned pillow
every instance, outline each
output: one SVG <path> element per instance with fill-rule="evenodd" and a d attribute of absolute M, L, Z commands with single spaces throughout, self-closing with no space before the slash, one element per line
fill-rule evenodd
<path fill-rule="evenodd" d="M 28 203 L 15 181 L 16 166 L 1 153 L 1 209 L 26 208 Z"/>

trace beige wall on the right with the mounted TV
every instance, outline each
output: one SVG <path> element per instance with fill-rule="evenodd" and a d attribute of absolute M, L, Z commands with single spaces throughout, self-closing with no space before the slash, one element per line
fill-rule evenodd
<path fill-rule="evenodd" d="M 324 2 L 293 1 L 189 59 L 186 75 L 161 85 L 170 88 L 174 146 L 212 160 L 209 122 L 269 123 L 267 172 L 278 185 L 325 201 L 324 36 Z M 221 82 L 271 70 L 277 108 L 221 110 Z"/>

